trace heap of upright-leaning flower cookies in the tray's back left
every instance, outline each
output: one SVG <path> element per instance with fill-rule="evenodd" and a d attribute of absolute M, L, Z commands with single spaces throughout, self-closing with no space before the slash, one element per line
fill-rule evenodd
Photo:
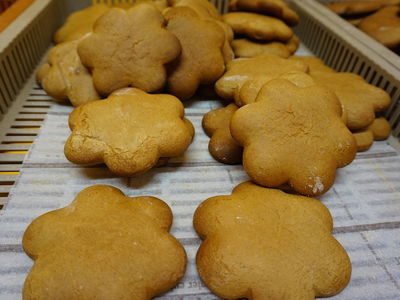
<path fill-rule="evenodd" d="M 98 4 L 72 14 L 40 68 L 46 92 L 74 106 L 124 87 L 181 100 L 213 84 L 233 59 L 231 28 L 207 0 Z"/>

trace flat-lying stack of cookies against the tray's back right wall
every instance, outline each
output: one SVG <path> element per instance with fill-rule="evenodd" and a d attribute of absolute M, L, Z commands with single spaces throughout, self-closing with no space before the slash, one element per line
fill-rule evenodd
<path fill-rule="evenodd" d="M 299 16 L 281 0 L 230 0 L 231 12 L 223 16 L 234 33 L 232 47 L 236 57 L 275 54 L 289 57 L 296 52 L 299 39 L 290 26 Z"/>

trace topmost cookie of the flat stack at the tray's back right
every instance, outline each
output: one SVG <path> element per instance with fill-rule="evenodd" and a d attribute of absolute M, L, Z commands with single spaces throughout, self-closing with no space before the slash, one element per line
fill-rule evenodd
<path fill-rule="evenodd" d="M 298 14 L 282 0 L 231 0 L 230 10 L 252 11 L 271 15 L 290 26 L 295 26 L 299 23 Z"/>

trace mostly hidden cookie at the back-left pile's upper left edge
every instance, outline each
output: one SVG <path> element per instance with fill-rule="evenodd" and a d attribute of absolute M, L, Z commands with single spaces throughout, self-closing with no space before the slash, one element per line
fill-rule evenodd
<path fill-rule="evenodd" d="M 65 24 L 54 35 L 56 43 L 78 40 L 92 32 L 93 24 L 110 9 L 105 4 L 95 4 L 69 15 Z"/>

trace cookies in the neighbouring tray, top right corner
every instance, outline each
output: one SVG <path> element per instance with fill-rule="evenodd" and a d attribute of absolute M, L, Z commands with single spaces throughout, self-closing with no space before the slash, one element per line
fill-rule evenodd
<path fill-rule="evenodd" d="M 345 1 L 327 7 L 385 47 L 400 53 L 399 0 Z"/>

